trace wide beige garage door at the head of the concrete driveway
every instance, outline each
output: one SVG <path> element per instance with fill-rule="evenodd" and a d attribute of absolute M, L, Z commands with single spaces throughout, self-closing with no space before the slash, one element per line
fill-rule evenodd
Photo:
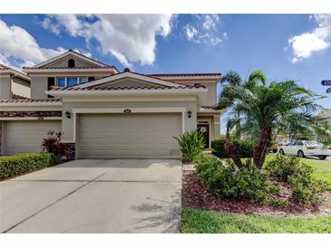
<path fill-rule="evenodd" d="M 83 114 L 79 158 L 180 157 L 181 114 Z"/>

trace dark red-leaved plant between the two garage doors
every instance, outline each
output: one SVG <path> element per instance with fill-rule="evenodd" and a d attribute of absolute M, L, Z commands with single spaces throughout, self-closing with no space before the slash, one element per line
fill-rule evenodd
<path fill-rule="evenodd" d="M 42 147 L 46 152 L 54 153 L 59 162 L 67 161 L 70 159 L 69 144 L 61 141 L 63 132 L 55 132 L 53 130 L 47 131 L 47 137 L 43 138 Z"/>

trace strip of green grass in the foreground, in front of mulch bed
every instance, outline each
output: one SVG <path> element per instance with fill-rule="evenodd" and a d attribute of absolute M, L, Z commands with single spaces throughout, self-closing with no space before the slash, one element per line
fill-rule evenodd
<path fill-rule="evenodd" d="M 331 234 L 331 216 L 267 217 L 184 208 L 184 234 Z"/>

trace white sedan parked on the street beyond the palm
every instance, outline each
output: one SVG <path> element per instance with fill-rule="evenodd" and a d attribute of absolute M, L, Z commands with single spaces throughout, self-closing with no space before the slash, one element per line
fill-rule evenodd
<path fill-rule="evenodd" d="M 326 157 L 331 156 L 331 148 L 327 148 L 322 143 L 316 141 L 292 140 L 287 145 L 281 146 L 279 153 L 297 157 L 318 157 L 319 159 L 326 159 Z"/>

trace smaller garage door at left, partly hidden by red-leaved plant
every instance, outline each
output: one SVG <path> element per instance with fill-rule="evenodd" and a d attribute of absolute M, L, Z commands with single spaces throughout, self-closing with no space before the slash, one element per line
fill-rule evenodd
<path fill-rule="evenodd" d="M 5 121 L 5 154 L 40 152 L 48 130 L 61 130 L 60 120 Z"/>

